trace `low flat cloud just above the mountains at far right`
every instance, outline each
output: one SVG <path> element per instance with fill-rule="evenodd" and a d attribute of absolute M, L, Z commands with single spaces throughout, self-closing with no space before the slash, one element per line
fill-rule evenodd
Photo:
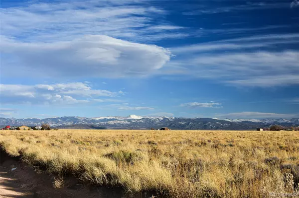
<path fill-rule="evenodd" d="M 258 119 L 258 118 L 294 118 L 296 114 L 277 114 L 277 113 L 263 113 L 263 112 L 238 112 L 228 114 L 216 114 L 219 118 L 230 118 L 230 119 Z"/>

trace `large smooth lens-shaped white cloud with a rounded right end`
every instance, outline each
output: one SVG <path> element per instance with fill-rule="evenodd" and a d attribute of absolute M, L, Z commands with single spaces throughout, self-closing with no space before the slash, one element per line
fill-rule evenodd
<path fill-rule="evenodd" d="M 164 48 L 104 35 L 55 43 L 1 40 L 0 46 L 2 53 L 18 60 L 9 66 L 8 60 L 2 60 L 2 73 L 21 69 L 39 74 L 46 71 L 47 76 L 138 77 L 154 73 L 170 59 Z"/>

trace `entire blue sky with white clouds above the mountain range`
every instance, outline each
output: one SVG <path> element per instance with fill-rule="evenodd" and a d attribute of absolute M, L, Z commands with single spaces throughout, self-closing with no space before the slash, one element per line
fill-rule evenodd
<path fill-rule="evenodd" d="M 1 0 L 0 117 L 299 118 L 299 0 Z"/>

